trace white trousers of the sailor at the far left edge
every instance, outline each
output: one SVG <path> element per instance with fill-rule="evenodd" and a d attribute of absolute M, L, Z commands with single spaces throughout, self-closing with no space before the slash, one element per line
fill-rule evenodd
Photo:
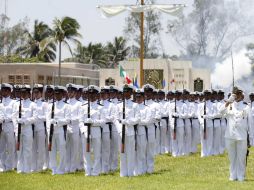
<path fill-rule="evenodd" d="M 15 162 L 14 132 L 1 132 L 0 135 L 0 170 L 13 169 Z"/>

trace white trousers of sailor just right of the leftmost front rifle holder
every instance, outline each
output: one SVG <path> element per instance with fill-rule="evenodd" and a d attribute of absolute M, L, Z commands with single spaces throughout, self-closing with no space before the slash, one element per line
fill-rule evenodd
<path fill-rule="evenodd" d="M 35 131 L 33 138 L 32 170 L 41 171 L 46 163 L 46 134 L 45 130 Z"/>

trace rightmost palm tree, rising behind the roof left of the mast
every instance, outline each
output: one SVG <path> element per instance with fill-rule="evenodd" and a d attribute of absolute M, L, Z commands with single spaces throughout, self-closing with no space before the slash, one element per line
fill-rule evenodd
<path fill-rule="evenodd" d="M 106 49 L 110 61 L 108 67 L 116 67 L 118 62 L 128 55 L 130 47 L 126 47 L 126 40 L 123 37 L 115 37 L 113 43 L 108 42 Z"/>

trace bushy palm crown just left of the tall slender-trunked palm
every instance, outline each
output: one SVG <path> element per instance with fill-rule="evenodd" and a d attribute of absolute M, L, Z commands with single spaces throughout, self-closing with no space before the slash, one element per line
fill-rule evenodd
<path fill-rule="evenodd" d="M 26 58 L 37 57 L 41 61 L 54 61 L 56 58 L 56 46 L 54 43 L 49 43 L 40 50 L 40 43 L 52 34 L 52 30 L 47 24 L 35 20 L 34 30 L 32 33 L 25 31 L 27 43 L 17 49 L 17 53 Z"/>

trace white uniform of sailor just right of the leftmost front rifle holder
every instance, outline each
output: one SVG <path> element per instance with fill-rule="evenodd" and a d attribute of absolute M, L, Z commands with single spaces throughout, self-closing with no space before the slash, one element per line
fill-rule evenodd
<path fill-rule="evenodd" d="M 48 104 L 42 99 L 34 100 L 37 111 L 37 118 L 34 123 L 34 139 L 33 139 L 33 158 L 32 158 L 32 170 L 41 171 L 46 164 L 46 147 L 47 135 L 46 135 L 46 114 Z"/>

